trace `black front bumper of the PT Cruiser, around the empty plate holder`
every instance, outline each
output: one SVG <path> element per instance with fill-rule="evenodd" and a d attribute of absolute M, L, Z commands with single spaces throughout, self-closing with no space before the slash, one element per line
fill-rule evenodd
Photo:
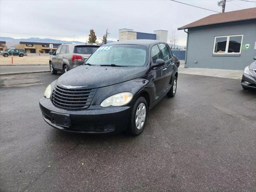
<path fill-rule="evenodd" d="M 44 120 L 53 126 L 65 131 L 80 133 L 118 133 L 125 130 L 130 120 L 130 106 L 106 107 L 90 106 L 84 110 L 65 110 L 54 106 L 50 99 L 44 97 L 39 100 Z M 52 123 L 51 112 L 69 114 L 69 127 Z"/>

